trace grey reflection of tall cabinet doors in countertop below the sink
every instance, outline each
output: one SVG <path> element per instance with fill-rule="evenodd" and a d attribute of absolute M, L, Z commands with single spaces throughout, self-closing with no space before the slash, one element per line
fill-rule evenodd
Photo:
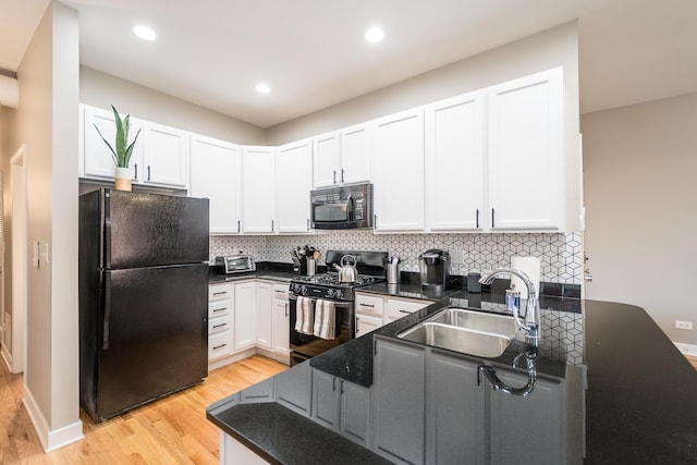
<path fill-rule="evenodd" d="M 538 378 L 528 394 L 516 395 L 494 390 L 479 374 L 481 360 L 382 338 L 375 343 L 377 453 L 409 464 L 574 463 L 565 454 L 565 380 Z M 496 372 L 512 388 L 528 381 Z"/>

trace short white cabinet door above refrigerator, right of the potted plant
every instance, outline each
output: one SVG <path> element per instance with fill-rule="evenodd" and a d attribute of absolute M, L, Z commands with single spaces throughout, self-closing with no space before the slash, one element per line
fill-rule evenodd
<path fill-rule="evenodd" d="M 147 123 L 143 140 L 145 184 L 187 187 L 188 134 L 160 124 Z"/>

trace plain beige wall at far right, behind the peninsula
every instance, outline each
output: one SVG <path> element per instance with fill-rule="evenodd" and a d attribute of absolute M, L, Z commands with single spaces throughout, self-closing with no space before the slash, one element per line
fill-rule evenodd
<path fill-rule="evenodd" d="M 672 341 L 693 345 L 696 122 L 697 94 L 582 118 L 586 297 L 644 307 Z M 675 329 L 676 319 L 695 330 Z"/>

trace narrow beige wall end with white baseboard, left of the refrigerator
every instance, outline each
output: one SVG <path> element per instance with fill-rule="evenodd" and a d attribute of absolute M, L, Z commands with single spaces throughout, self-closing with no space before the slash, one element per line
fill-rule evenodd
<path fill-rule="evenodd" d="M 12 145 L 26 143 L 27 235 L 48 244 L 27 272 L 24 405 L 45 449 L 82 438 L 77 325 L 77 13 L 51 2 L 17 70 Z M 8 157 L 8 154 L 4 154 Z M 28 258 L 28 257 L 27 257 Z"/>

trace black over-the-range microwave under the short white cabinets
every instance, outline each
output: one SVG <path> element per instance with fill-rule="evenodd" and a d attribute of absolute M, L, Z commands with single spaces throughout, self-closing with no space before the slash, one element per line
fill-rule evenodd
<path fill-rule="evenodd" d="M 372 184 L 310 191 L 309 198 L 316 230 L 372 228 Z"/>

